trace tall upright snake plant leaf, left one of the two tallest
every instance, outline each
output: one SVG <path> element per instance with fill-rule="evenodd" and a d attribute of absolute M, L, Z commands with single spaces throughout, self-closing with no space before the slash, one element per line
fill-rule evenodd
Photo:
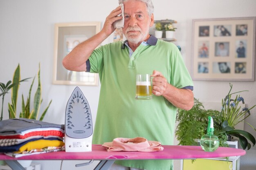
<path fill-rule="evenodd" d="M 13 87 L 11 89 L 11 97 L 14 101 L 14 107 L 16 108 L 17 99 L 18 99 L 18 90 L 19 90 L 19 84 L 20 82 L 20 64 L 18 64 L 16 70 L 13 74 Z M 16 113 L 15 113 L 16 114 Z"/>

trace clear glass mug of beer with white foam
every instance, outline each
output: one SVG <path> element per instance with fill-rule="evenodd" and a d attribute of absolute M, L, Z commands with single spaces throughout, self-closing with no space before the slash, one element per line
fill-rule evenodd
<path fill-rule="evenodd" d="M 137 74 L 135 99 L 152 99 L 150 74 Z"/>

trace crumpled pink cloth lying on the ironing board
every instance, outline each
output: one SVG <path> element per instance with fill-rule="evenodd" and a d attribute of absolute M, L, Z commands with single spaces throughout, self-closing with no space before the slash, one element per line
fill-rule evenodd
<path fill-rule="evenodd" d="M 119 137 L 112 142 L 105 142 L 102 146 L 106 147 L 107 151 L 155 152 L 164 150 L 159 141 L 148 141 L 144 137 L 132 139 Z"/>

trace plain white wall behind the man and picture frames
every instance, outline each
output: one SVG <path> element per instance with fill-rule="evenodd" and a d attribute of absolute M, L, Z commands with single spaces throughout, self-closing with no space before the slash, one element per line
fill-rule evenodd
<path fill-rule="evenodd" d="M 191 69 L 192 57 L 192 19 L 256 16 L 255 0 L 153 0 L 153 3 L 155 20 L 168 18 L 178 21 L 175 44 L 181 46 L 181 53 L 189 69 Z M 44 121 L 64 124 L 65 105 L 75 86 L 52 84 L 54 24 L 100 21 L 103 25 L 106 16 L 117 5 L 117 0 L 0 0 L 0 82 L 6 83 L 12 79 L 18 63 L 20 63 L 22 79 L 34 77 L 40 62 L 44 99 L 42 108 L 45 108 L 52 99 L 52 105 Z M 106 40 L 104 44 L 108 42 L 111 40 Z M 256 104 L 256 82 L 231 83 L 234 85 L 234 91 L 250 91 L 243 95 L 248 106 Z M 31 81 L 20 85 L 19 99 L 21 93 L 27 96 L 30 84 Z M 80 88 L 89 101 L 92 113 L 96 114 L 100 86 L 80 86 Z M 202 102 L 220 102 L 228 91 L 229 82 L 194 81 L 195 97 Z M 10 94 L 5 98 L 4 119 L 8 118 L 7 102 L 10 102 Z M 20 103 L 18 108 L 21 108 Z M 255 112 L 255 109 L 252 110 L 252 115 L 247 119 L 254 126 L 256 126 Z M 245 125 L 245 130 L 256 136 L 256 131 L 249 126 Z M 252 147 L 247 151 L 247 155 L 241 158 L 240 169 L 255 170 L 255 159 L 256 147 Z M 60 166 L 60 161 L 40 161 L 40 163 L 42 170 L 58 169 Z M 175 167 L 179 167 L 177 161 L 176 164 Z M 64 161 L 63 170 L 65 169 L 74 169 L 74 161 Z M 92 166 L 90 169 L 93 169 Z"/>

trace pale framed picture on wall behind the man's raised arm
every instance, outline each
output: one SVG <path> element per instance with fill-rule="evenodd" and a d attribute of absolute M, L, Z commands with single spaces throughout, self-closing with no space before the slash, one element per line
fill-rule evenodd
<path fill-rule="evenodd" d="M 63 58 L 81 42 L 99 33 L 101 22 L 76 22 L 55 24 L 53 84 L 97 86 L 96 73 L 76 72 L 65 69 Z"/>

